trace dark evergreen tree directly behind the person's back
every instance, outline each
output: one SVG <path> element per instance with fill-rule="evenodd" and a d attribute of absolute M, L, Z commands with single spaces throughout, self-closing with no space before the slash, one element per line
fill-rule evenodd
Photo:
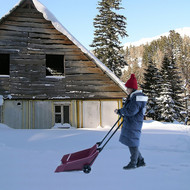
<path fill-rule="evenodd" d="M 144 83 L 141 85 L 143 92 L 148 96 L 147 117 L 160 120 L 160 74 L 152 60 L 149 61 L 144 73 Z"/>

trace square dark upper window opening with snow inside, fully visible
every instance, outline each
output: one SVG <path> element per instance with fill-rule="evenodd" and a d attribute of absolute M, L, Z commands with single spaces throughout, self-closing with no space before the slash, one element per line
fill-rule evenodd
<path fill-rule="evenodd" d="M 46 76 L 64 76 L 64 56 L 46 55 Z"/>

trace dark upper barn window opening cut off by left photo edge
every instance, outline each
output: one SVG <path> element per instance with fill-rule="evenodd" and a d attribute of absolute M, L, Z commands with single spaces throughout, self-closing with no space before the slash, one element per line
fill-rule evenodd
<path fill-rule="evenodd" d="M 0 54 L 0 75 L 9 75 L 10 55 Z"/>

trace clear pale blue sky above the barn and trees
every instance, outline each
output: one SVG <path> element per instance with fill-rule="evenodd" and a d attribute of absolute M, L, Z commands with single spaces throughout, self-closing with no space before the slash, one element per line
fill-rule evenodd
<path fill-rule="evenodd" d="M 99 13 L 100 0 L 39 0 L 62 25 L 87 49 L 94 38 L 93 21 Z M 19 0 L 0 0 L 0 18 L 9 12 Z M 117 13 L 127 18 L 128 37 L 122 45 L 142 38 L 190 27 L 190 0 L 122 0 L 124 10 Z"/>

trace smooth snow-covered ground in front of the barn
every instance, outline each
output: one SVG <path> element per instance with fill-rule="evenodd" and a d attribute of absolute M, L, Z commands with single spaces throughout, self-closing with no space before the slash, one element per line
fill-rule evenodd
<path fill-rule="evenodd" d="M 190 127 L 145 122 L 141 153 L 146 167 L 125 171 L 120 131 L 98 155 L 92 171 L 54 173 L 66 153 L 90 148 L 106 129 L 15 130 L 0 125 L 2 190 L 189 190 Z"/>

